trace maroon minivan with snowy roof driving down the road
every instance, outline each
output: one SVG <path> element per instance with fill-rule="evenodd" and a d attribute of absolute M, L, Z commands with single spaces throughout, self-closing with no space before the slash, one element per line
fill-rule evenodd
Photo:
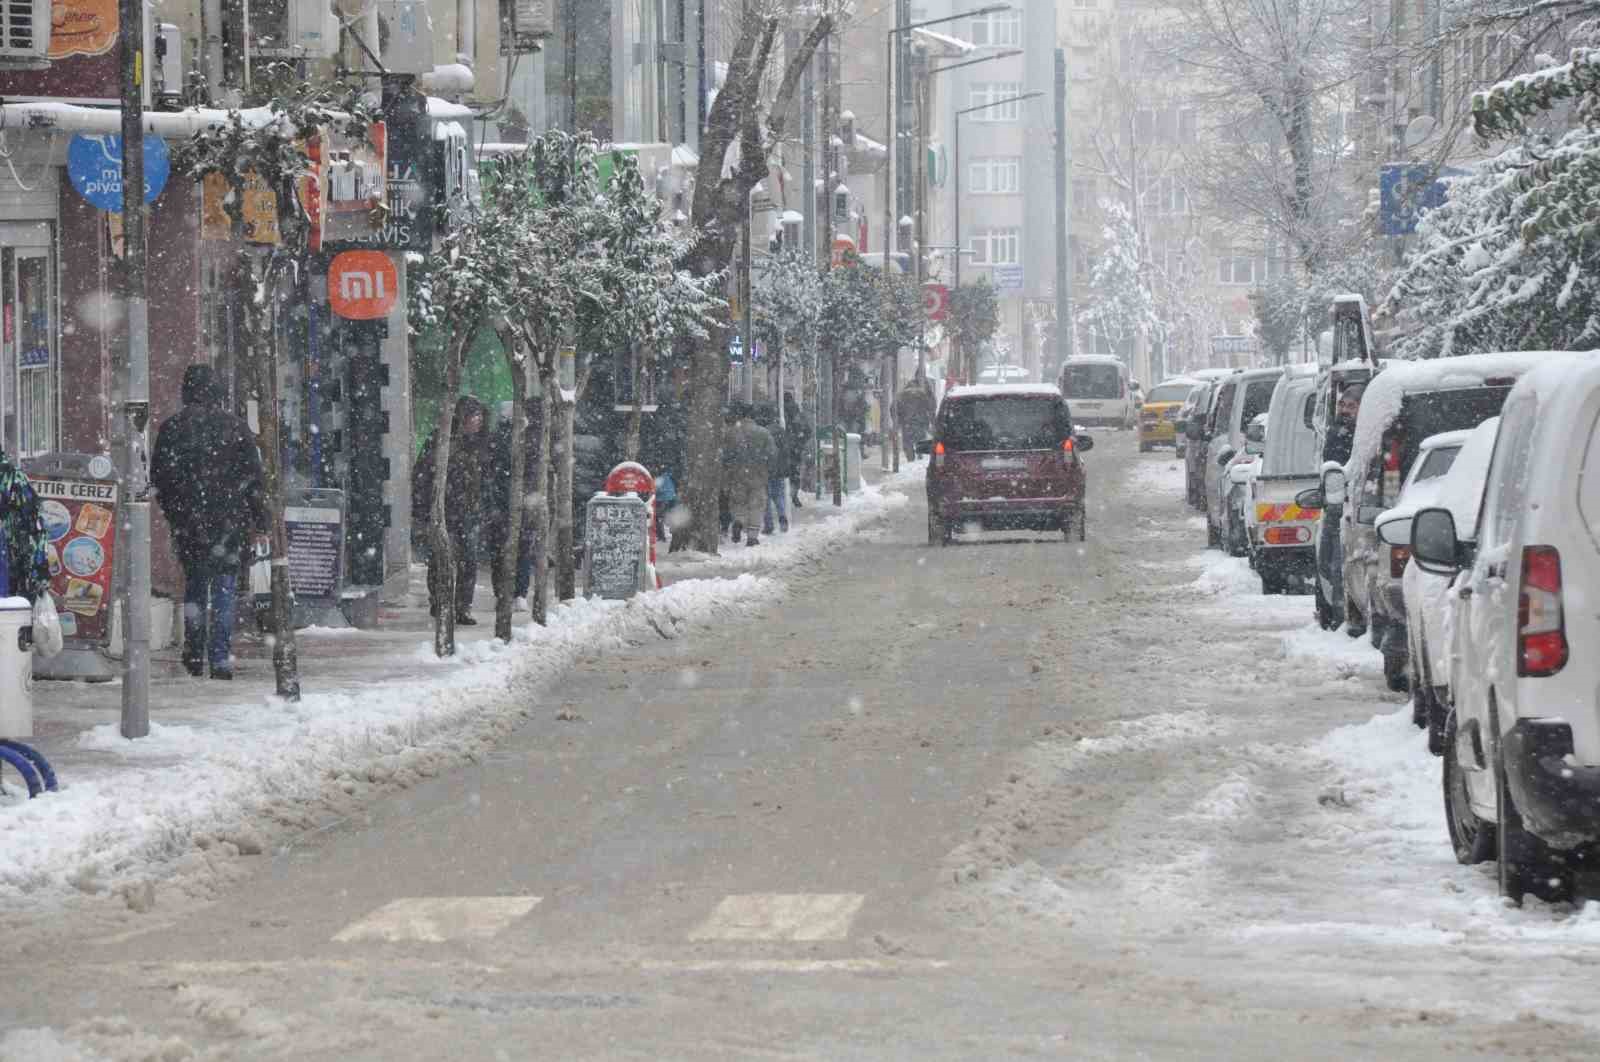
<path fill-rule="evenodd" d="M 1094 446 L 1072 430 L 1048 384 L 954 387 L 939 403 L 928 462 L 928 544 L 973 531 L 1056 531 L 1082 542 L 1083 462 Z"/>

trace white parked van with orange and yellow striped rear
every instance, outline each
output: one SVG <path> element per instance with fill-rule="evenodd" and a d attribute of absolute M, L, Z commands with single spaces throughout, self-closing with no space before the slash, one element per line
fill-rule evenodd
<path fill-rule="evenodd" d="M 1262 593 L 1285 593 L 1314 577 L 1314 526 L 1320 509 L 1301 505 L 1299 494 L 1315 488 L 1317 437 L 1306 416 L 1317 400 L 1315 369 L 1291 368 L 1278 379 L 1266 413 L 1266 446 L 1259 470 L 1250 477 L 1245 517 L 1251 566 Z"/>

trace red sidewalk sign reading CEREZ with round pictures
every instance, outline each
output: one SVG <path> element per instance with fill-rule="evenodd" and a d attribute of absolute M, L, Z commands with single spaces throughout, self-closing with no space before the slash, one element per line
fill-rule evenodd
<path fill-rule="evenodd" d="M 69 645 L 106 645 L 110 640 L 117 481 L 110 478 L 110 461 L 98 461 L 104 464 L 88 469 L 90 477 L 29 473 L 50 539 L 45 545 L 50 592 Z"/>

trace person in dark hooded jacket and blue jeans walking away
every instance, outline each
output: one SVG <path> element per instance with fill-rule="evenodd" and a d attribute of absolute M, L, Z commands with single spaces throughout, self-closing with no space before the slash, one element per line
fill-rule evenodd
<path fill-rule="evenodd" d="M 250 427 L 222 408 L 210 365 L 184 369 L 184 408 L 162 424 L 150 485 L 173 528 L 184 569 L 184 667 L 232 678 L 240 553 L 267 533 L 261 451 Z"/>

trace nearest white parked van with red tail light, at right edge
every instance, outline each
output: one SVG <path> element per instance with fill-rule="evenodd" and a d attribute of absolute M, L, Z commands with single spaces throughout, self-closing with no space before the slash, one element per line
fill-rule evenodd
<path fill-rule="evenodd" d="M 1571 896 L 1600 841 L 1600 358 L 1542 355 L 1512 387 L 1475 545 L 1422 509 L 1413 557 L 1456 579 L 1445 822 L 1520 902 Z"/>

